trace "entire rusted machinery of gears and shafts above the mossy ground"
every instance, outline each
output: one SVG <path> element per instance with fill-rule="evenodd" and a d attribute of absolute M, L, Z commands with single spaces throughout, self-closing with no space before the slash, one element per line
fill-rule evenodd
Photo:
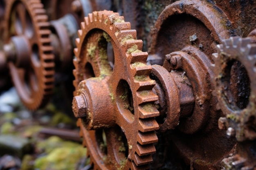
<path fill-rule="evenodd" d="M 32 110 L 73 73 L 92 169 L 256 170 L 254 0 L 42 2 L 6 1 L 1 65 Z"/>

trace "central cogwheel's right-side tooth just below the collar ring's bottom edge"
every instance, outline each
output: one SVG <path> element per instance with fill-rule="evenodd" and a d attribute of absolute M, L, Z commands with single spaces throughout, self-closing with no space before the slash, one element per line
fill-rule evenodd
<path fill-rule="evenodd" d="M 155 134 L 155 131 L 138 133 L 138 142 L 141 145 L 153 144 L 153 143 L 156 143 L 157 141 L 158 141 L 158 138 L 157 138 L 157 135 Z"/>

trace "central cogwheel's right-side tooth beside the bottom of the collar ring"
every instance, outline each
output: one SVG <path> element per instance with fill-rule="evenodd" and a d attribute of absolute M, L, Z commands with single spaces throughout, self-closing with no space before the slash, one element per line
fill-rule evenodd
<path fill-rule="evenodd" d="M 157 121 L 155 121 L 154 118 L 139 119 L 139 131 L 149 132 L 158 129 L 159 125 L 157 124 Z"/>

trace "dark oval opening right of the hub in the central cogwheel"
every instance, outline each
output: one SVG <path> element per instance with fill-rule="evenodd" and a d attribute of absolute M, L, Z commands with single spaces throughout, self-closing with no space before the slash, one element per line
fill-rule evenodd
<path fill-rule="evenodd" d="M 130 121 L 134 119 L 134 107 L 132 99 L 132 91 L 129 84 L 125 80 L 121 80 L 117 86 L 117 104 L 121 113 Z"/>

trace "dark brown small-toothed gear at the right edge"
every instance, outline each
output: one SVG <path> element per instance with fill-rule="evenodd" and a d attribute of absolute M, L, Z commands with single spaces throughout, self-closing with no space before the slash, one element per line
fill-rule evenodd
<path fill-rule="evenodd" d="M 250 43 L 250 38 L 231 37 L 213 54 L 214 94 L 227 118 L 219 120 L 220 128 L 238 141 L 256 139 L 256 44 Z"/>

